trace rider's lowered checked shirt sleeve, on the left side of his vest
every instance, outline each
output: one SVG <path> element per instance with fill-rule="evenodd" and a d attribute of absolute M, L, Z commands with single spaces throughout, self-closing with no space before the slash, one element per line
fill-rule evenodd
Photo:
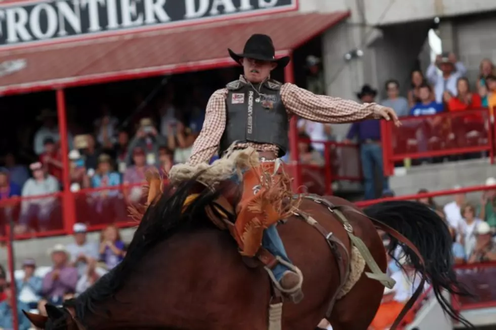
<path fill-rule="evenodd" d="M 203 127 L 193 144 L 188 164 L 208 162 L 215 155 L 226 127 L 226 97 L 226 88 L 216 90 L 210 97 Z"/>

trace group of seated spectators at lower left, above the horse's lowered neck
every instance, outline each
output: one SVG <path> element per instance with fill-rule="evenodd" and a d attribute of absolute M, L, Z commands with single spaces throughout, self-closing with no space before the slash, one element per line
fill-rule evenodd
<path fill-rule="evenodd" d="M 61 305 L 65 300 L 86 291 L 107 271 L 118 265 L 126 255 L 126 244 L 119 229 L 108 225 L 100 234 L 100 241 L 87 237 L 87 226 L 76 223 L 73 243 L 56 244 L 49 249 L 51 266 L 37 266 L 34 259 L 25 259 L 22 270 L 14 280 L 8 281 L 5 269 L 0 266 L 0 328 L 12 328 L 12 287 L 17 290 L 19 330 L 31 328 L 22 310 L 36 310 L 47 315 L 45 304 Z"/>

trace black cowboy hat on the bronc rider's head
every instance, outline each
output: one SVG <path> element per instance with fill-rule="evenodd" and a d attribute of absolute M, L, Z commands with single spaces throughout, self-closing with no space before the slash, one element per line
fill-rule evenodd
<path fill-rule="evenodd" d="M 244 44 L 243 53 L 236 54 L 227 49 L 231 58 L 239 63 L 242 58 L 249 58 L 260 61 L 275 62 L 279 67 L 285 67 L 290 63 L 290 57 L 284 56 L 275 58 L 275 49 L 272 39 L 266 34 L 253 34 Z"/>

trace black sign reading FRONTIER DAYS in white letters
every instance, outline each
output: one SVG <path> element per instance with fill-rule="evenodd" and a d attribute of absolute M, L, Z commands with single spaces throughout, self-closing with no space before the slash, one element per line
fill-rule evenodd
<path fill-rule="evenodd" d="M 295 10 L 298 0 L 38 0 L 0 2 L 0 47 L 61 37 Z"/>

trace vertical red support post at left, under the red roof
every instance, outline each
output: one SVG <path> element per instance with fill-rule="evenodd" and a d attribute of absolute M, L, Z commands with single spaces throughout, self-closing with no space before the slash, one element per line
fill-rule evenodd
<path fill-rule="evenodd" d="M 62 153 L 62 184 L 64 194 L 62 196 L 62 215 L 64 229 L 67 234 L 72 233 L 72 226 L 76 221 L 76 208 L 74 195 L 70 191 L 70 168 L 69 168 L 69 145 L 67 133 L 67 116 L 65 107 L 65 93 L 63 89 L 57 89 L 57 117 L 59 122 L 60 152 Z"/>

